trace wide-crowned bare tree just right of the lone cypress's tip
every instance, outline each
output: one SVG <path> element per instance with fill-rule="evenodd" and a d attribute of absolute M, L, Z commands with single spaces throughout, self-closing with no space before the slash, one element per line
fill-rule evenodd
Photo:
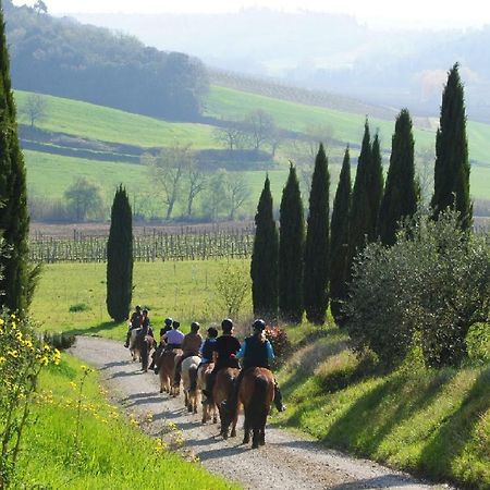
<path fill-rule="evenodd" d="M 145 154 L 142 163 L 149 169 L 150 177 L 160 191 L 161 198 L 167 205 L 166 219 L 170 220 L 173 208 L 182 187 L 182 179 L 185 171 L 192 166 L 193 154 L 191 145 L 174 144 L 170 148 L 162 148 L 157 156 Z"/>

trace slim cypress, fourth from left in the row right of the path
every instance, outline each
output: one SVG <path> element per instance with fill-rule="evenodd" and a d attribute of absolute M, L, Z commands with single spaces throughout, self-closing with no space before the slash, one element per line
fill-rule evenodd
<path fill-rule="evenodd" d="M 333 200 L 330 226 L 330 309 L 342 324 L 342 303 L 347 297 L 348 219 L 351 211 L 351 156 L 345 149 L 342 170 Z"/>

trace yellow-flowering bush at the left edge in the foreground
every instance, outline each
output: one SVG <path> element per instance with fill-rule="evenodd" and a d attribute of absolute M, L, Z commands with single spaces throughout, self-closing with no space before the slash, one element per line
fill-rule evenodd
<path fill-rule="evenodd" d="M 3 310 L 0 315 L 0 489 L 15 477 L 24 430 L 39 373 L 58 364 L 60 353 L 40 342 L 32 324 Z"/>

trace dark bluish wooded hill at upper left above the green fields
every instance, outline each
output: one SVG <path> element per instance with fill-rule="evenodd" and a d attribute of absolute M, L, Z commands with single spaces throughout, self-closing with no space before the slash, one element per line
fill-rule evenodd
<path fill-rule="evenodd" d="M 170 120 L 199 119 L 208 79 L 197 58 L 10 0 L 2 4 L 15 88 Z"/>

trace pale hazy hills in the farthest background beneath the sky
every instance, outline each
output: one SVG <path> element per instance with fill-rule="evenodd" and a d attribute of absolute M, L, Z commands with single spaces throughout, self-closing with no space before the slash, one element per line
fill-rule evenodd
<path fill-rule="evenodd" d="M 267 9 L 76 17 L 198 56 L 208 66 L 420 115 L 438 115 L 446 72 L 458 61 L 469 118 L 490 121 L 490 26 L 375 29 L 347 15 Z"/>

